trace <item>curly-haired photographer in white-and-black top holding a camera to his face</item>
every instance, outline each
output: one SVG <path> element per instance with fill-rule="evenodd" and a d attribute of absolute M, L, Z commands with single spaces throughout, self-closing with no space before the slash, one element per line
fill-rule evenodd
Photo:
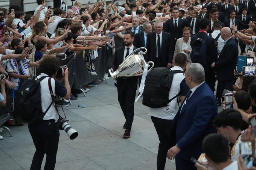
<path fill-rule="evenodd" d="M 63 97 L 64 99 L 70 98 L 71 89 L 68 80 L 68 69 L 66 69 L 65 71 L 64 69 L 62 69 L 62 75 L 64 76 L 64 87 L 62 87 L 60 83 L 56 79 L 54 79 L 57 75 L 59 67 L 59 60 L 52 57 L 44 59 L 39 66 L 41 74 L 38 75 L 37 78 L 47 76 L 40 82 L 42 101 L 41 105 L 43 113 L 46 112 L 47 108 L 52 103 L 52 98 L 48 85 L 49 78 L 52 78 L 50 81 L 50 85 L 52 87 L 52 92 L 54 96 L 56 94 Z M 56 154 L 59 143 L 59 130 L 56 129 L 54 126 L 56 119 L 55 114 L 55 103 L 53 103 L 49 107 L 49 110 L 46 112 L 41 122 L 28 125 L 29 132 L 32 136 L 36 148 L 30 170 L 41 169 L 41 164 L 45 153 L 46 163 L 44 169 L 53 170 L 55 167 Z"/>

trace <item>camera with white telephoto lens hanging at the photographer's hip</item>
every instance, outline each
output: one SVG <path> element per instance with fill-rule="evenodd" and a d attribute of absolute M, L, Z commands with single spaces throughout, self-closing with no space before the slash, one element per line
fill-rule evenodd
<path fill-rule="evenodd" d="M 59 130 L 64 130 L 67 133 L 68 137 L 73 140 L 78 136 L 78 132 L 69 125 L 68 121 L 69 120 L 65 118 L 59 118 L 58 121 L 55 123 L 55 128 Z"/>

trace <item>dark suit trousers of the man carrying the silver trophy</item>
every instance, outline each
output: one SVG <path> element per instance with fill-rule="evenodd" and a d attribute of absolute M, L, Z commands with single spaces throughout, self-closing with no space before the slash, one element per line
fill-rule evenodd
<path fill-rule="evenodd" d="M 136 97 L 136 89 L 132 84 L 128 85 L 126 88 L 117 87 L 118 101 L 125 116 L 126 129 L 131 130 L 131 125 L 133 124 L 134 116 L 134 101 Z"/>

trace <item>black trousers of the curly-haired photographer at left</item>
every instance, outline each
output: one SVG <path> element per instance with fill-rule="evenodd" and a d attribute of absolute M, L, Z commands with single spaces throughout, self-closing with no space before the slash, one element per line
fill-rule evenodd
<path fill-rule="evenodd" d="M 55 120 L 43 120 L 29 124 L 29 132 L 35 144 L 35 154 L 30 170 L 40 170 L 44 154 L 46 162 L 44 170 L 54 170 L 59 144 L 59 130 L 54 127 Z"/>

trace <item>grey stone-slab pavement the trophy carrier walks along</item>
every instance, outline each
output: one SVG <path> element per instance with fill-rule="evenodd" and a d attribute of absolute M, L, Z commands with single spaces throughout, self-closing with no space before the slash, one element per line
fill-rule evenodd
<path fill-rule="evenodd" d="M 124 139 L 125 119 L 113 80 L 91 87 L 86 95 L 79 94 L 78 100 L 72 101 L 73 105 L 64 108 L 70 125 L 79 135 L 70 140 L 60 131 L 55 169 L 155 170 L 159 141 L 142 98 L 135 104 L 131 138 Z M 78 108 L 79 104 L 86 104 L 86 107 Z M 4 137 L 0 140 L 0 170 L 29 170 L 35 146 L 27 124 L 9 128 L 13 137 L 9 137 L 7 131 L 0 133 Z M 175 169 L 174 162 L 166 161 L 166 170 Z"/>

